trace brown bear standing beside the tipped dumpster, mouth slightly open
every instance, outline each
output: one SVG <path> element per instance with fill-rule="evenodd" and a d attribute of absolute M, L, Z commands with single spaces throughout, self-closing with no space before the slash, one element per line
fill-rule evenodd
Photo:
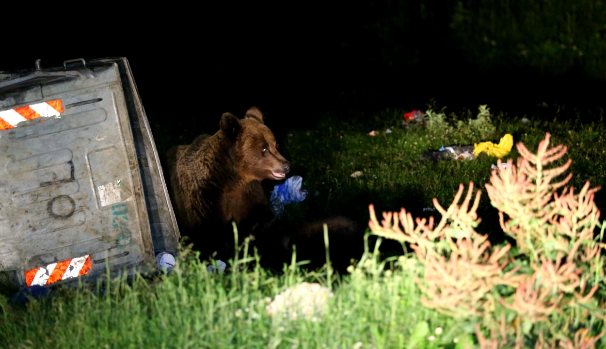
<path fill-rule="evenodd" d="M 231 231 L 232 221 L 250 233 L 273 219 L 261 181 L 285 178 L 290 164 L 258 108 L 241 120 L 225 113 L 219 126 L 213 136 L 168 150 L 167 163 L 182 230 L 198 250 L 223 256 L 230 252 L 233 233 L 217 235 L 225 235 L 225 227 Z"/>

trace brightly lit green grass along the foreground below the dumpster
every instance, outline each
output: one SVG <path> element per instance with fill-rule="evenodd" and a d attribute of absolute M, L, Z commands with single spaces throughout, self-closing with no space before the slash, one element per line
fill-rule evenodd
<path fill-rule="evenodd" d="M 25 308 L 3 299 L 0 343 L 9 348 L 352 348 L 362 342 L 368 348 L 423 344 L 427 328 L 450 329 L 440 337 L 446 342 L 458 335 L 453 321 L 419 304 L 414 259 L 387 262 L 393 271 L 382 274 L 386 262 L 378 261 L 378 253 L 368 257 L 351 276 L 333 280 L 330 310 L 319 322 L 275 322 L 265 307 L 267 297 L 289 285 L 326 284 L 325 273 L 305 273 L 293 264 L 273 275 L 250 258 L 237 262 L 235 273 L 213 274 L 188 256 L 155 284 L 140 276 L 132 285 L 118 278 L 105 293 L 100 285 L 95 292 L 62 290 Z"/>

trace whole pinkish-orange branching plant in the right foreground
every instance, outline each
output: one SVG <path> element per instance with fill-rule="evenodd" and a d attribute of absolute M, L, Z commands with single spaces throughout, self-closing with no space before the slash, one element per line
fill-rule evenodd
<path fill-rule="evenodd" d="M 601 339 L 606 304 L 594 294 L 604 287 L 604 247 L 596 234 L 599 210 L 589 182 L 578 193 L 558 181 L 571 160 L 550 166 L 566 153 L 549 147 L 547 133 L 536 153 L 517 145 L 521 158 L 493 170 L 486 190 L 499 211 L 505 234 L 515 240 L 492 246 L 476 232 L 481 221 L 481 191 L 473 182 L 459 204 L 464 186 L 448 208 L 433 204 L 442 218 L 413 219 L 400 212 L 383 213 L 379 223 L 370 205 L 373 234 L 410 245 L 424 265 L 416 284 L 425 307 L 474 323 L 482 348 L 591 348 Z M 473 201 L 472 201 L 473 199 Z M 594 235 L 597 235 L 594 237 Z M 488 337 L 487 337 L 488 335 Z"/>

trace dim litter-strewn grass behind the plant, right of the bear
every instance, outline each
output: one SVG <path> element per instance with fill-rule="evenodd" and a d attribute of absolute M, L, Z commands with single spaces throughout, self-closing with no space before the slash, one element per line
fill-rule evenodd
<path fill-rule="evenodd" d="M 433 207 L 437 198 L 448 205 L 458 190 L 459 183 L 473 181 L 484 190 L 489 181 L 495 158 L 473 161 L 419 162 L 425 150 L 438 150 L 442 145 L 466 145 L 482 141 L 499 142 L 505 133 L 513 135 L 514 144 L 524 142 L 536 149 L 545 133 L 551 133 L 551 144 L 564 144 L 573 159 L 574 174 L 570 185 L 581 188 L 585 181 L 593 187 L 604 187 L 606 153 L 605 127 L 601 121 L 582 123 L 579 118 L 567 120 L 537 119 L 528 124 L 520 118 L 493 118 L 496 131 L 491 138 L 458 132 L 429 132 L 425 128 L 399 126 L 402 111 L 385 111 L 372 121 L 358 124 L 333 122 L 327 119 L 315 130 L 289 133 L 283 148 L 293 162 L 293 174 L 304 178 L 303 188 L 309 191 L 307 199 L 296 205 L 286 205 L 285 216 L 293 221 L 348 216 L 361 224 L 368 222 L 368 204 L 377 211 L 399 210 L 404 207 L 413 216 L 428 216 L 422 208 Z M 464 113 L 467 119 L 470 113 Z M 596 119 L 601 116 L 597 115 Z M 456 124 L 456 118 L 449 117 Z M 385 129 L 393 130 L 385 134 Z M 379 130 L 379 136 L 368 136 L 368 131 Z M 515 145 L 502 160 L 518 158 Z M 567 158 L 568 159 L 568 158 Z M 562 163 L 564 160 L 561 161 Z M 515 163 L 515 162 L 514 162 Z M 364 176 L 351 178 L 354 171 Z M 318 193 L 317 196 L 315 194 Z M 485 193 L 485 191 L 484 191 Z M 604 193 L 596 194 L 598 207 L 604 208 Z M 497 211 L 483 194 L 478 210 L 482 217 L 478 231 L 491 234 L 494 242 L 502 239 Z"/>

